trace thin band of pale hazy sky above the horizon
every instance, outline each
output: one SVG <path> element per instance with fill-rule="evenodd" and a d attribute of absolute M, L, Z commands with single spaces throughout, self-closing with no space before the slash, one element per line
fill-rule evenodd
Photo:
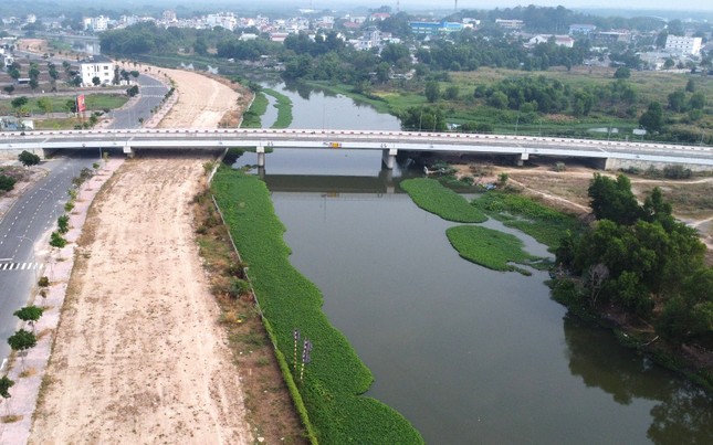
<path fill-rule="evenodd" d="M 329 8 L 329 4 L 346 3 L 346 0 L 312 0 L 315 8 Z M 302 0 L 300 2 L 304 7 L 310 6 L 310 0 Z M 363 4 L 367 7 L 378 7 L 381 4 L 394 8 L 396 0 L 352 0 L 349 3 Z M 401 9 L 448 9 L 452 8 L 454 0 L 400 0 Z M 536 4 L 543 7 L 556 7 L 562 4 L 565 8 L 623 8 L 623 9 L 648 9 L 648 10 L 713 10 L 712 0 L 686 0 L 686 1 L 670 1 L 670 0 L 536 0 L 536 1 L 522 1 L 522 0 L 459 0 L 459 9 L 494 9 L 494 8 L 512 8 L 518 4 Z"/>

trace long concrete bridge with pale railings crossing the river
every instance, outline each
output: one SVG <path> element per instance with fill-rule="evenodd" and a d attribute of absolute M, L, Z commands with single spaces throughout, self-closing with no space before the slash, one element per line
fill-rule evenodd
<path fill-rule="evenodd" d="M 258 163 L 273 149 L 379 150 L 387 169 L 399 150 L 505 155 L 522 165 L 529 157 L 583 158 L 605 170 L 651 165 L 682 165 L 713 170 L 713 147 L 513 135 L 428 131 L 310 130 L 243 128 L 98 129 L 0 133 L 0 156 L 23 150 L 48 156 L 61 149 L 116 150 L 133 156 L 150 149 L 254 149 Z"/>

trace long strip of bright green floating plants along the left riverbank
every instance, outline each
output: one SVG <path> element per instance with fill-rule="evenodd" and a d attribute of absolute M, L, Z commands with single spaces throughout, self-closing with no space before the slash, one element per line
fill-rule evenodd
<path fill-rule="evenodd" d="M 314 430 L 315 441 L 342 443 L 422 443 L 420 434 L 391 407 L 363 396 L 373 381 L 347 339 L 322 311 L 319 289 L 290 263 L 284 226 L 274 213 L 270 191 L 255 177 L 221 168 L 212 191 L 230 227 L 275 353 L 297 410 Z M 304 381 L 293 377 L 293 330 L 313 345 Z M 301 404 L 304 402 L 304 405 Z M 308 427 L 310 430 L 310 427 Z"/>

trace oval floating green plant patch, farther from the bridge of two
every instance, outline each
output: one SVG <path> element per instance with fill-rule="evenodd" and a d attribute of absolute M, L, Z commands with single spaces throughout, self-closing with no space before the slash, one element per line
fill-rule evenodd
<path fill-rule="evenodd" d="M 445 231 L 448 241 L 461 257 L 493 271 L 516 271 L 529 275 L 526 269 L 511 263 L 534 265 L 538 257 L 523 251 L 523 242 L 515 235 L 479 225 L 459 225 Z"/>

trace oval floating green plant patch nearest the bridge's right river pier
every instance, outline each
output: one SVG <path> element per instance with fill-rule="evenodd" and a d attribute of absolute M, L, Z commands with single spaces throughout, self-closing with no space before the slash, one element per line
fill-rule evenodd
<path fill-rule="evenodd" d="M 434 179 L 407 179 L 400 183 L 400 187 L 411 197 L 416 205 L 447 221 L 481 223 L 487 220 L 485 214 L 470 205 L 465 198 L 447 189 Z"/>

